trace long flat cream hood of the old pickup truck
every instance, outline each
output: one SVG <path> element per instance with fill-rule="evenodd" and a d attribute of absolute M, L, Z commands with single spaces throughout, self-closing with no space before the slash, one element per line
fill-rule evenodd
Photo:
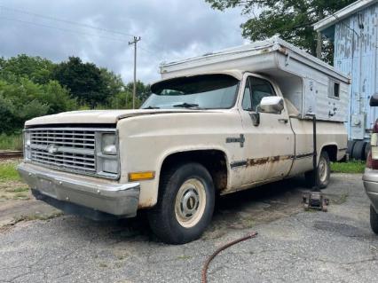
<path fill-rule="evenodd" d="M 46 115 L 37 117 L 25 122 L 25 126 L 42 124 L 67 124 L 67 123 L 96 123 L 112 124 L 121 119 L 147 115 L 147 114 L 171 114 L 202 112 L 209 110 L 190 110 L 190 109 L 134 109 L 134 110 L 83 110 L 63 112 L 60 114 Z"/>

